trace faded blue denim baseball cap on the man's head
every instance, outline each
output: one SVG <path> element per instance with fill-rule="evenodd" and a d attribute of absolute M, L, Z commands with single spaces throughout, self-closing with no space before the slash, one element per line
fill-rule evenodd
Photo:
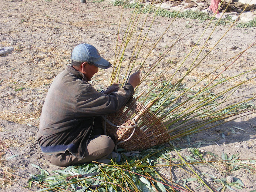
<path fill-rule="evenodd" d="M 89 62 L 96 67 L 107 69 L 111 63 L 101 57 L 99 51 L 92 45 L 82 43 L 76 46 L 71 54 L 71 60 L 77 62 Z"/>

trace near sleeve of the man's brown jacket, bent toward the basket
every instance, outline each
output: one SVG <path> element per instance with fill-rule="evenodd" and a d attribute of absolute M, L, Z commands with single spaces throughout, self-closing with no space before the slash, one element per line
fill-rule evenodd
<path fill-rule="evenodd" d="M 98 116 L 117 112 L 132 97 L 134 88 L 126 84 L 110 94 L 100 93 L 91 85 L 79 95 L 75 106 L 75 118 Z"/>

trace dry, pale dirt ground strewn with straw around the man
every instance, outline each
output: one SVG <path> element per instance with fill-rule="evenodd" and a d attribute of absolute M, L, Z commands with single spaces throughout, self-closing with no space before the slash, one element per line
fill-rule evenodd
<path fill-rule="evenodd" d="M 8 170 L 15 175 L 11 179 L 14 182 L 5 185 L 0 191 L 20 192 L 29 191 L 27 186 L 29 174 L 38 173 L 38 169 L 31 166 L 35 164 L 48 172 L 59 169 L 49 164 L 36 141 L 39 117 L 47 91 L 54 77 L 64 70 L 70 63 L 71 50 L 80 43 L 89 43 L 95 46 L 101 56 L 114 63 L 117 32 L 121 16 L 121 7 L 115 7 L 110 1 L 88 1 L 81 4 L 78 0 L 5 0 L 0 7 L 0 47 L 13 46 L 14 51 L 0 57 L 0 177 L 8 178 L 3 170 Z M 121 30 L 118 43 L 125 35 L 126 27 L 130 21 L 132 10 L 125 9 L 121 17 Z M 142 14 L 142 18 L 146 14 Z M 150 27 L 154 13 L 150 14 L 142 36 Z M 148 50 L 161 37 L 166 27 L 172 22 L 172 18 L 156 17 L 151 27 L 145 44 L 141 49 L 137 62 L 140 63 L 148 54 Z M 174 44 L 181 31 L 183 37 L 161 61 L 155 73 L 149 78 L 154 79 L 158 73 L 168 68 L 168 61 L 181 62 L 187 55 L 193 44 L 197 42 L 207 26 L 206 22 L 177 18 L 165 36 L 159 41 L 149 55 L 142 74 L 147 67 L 162 55 L 164 51 Z M 142 22 L 142 21 L 141 21 Z M 185 27 L 186 26 L 186 27 Z M 219 25 L 203 48 L 199 59 L 203 58 L 216 44 L 230 27 Z M 175 78 L 180 78 L 189 68 L 195 57 L 201 50 L 205 40 L 214 29 L 214 23 L 203 34 L 201 40 L 194 48 L 184 65 L 179 69 Z M 137 41 L 140 26 L 137 26 L 131 41 Z M 210 51 L 210 54 L 195 68 L 184 80 L 189 84 L 192 79 L 198 80 L 205 74 L 213 71 L 217 65 L 224 63 L 236 54 L 245 50 L 256 41 L 255 28 L 237 28 L 234 25 L 222 40 Z M 132 46 L 131 46 L 132 47 Z M 128 63 L 132 55 L 129 48 L 124 55 L 124 64 Z M 228 78 L 256 67 L 256 48 L 253 46 L 239 57 L 231 67 L 223 73 Z M 138 68 L 135 67 L 134 70 Z M 167 75 L 174 73 L 170 70 Z M 219 69 L 221 71 L 222 69 Z M 216 73 L 219 73 L 217 70 Z M 123 71 L 122 71 L 123 72 Z M 92 80 L 92 85 L 97 89 L 107 87 L 112 68 L 100 70 Z M 251 71 L 245 75 L 234 78 L 232 83 L 256 77 L 256 72 Z M 236 96 L 253 95 L 256 93 L 255 80 L 247 83 L 235 92 Z M 238 127 L 238 128 L 234 128 Z M 235 130 L 235 131 L 232 131 Z M 228 132 L 223 138 L 224 132 Z M 246 115 L 216 126 L 199 134 L 191 135 L 191 141 L 185 138 L 180 141 L 172 141 L 174 145 L 185 148 L 181 154 L 188 155 L 188 148 L 198 147 L 200 150 L 212 152 L 218 156 L 222 153 L 229 155 L 239 154 L 239 159 L 256 159 L 256 114 Z M 17 155 L 17 156 L 13 156 Z M 174 154 L 175 156 L 175 154 Z M 6 160 L 10 158 L 9 160 Z M 219 178 L 233 176 L 239 178 L 244 184 L 239 192 L 256 190 L 256 173 L 247 169 L 238 169 L 227 175 L 225 170 L 217 170 L 209 166 L 196 167 L 198 172 L 215 175 Z M 165 175 L 170 175 L 168 169 L 159 170 Z M 176 180 L 187 178 L 186 172 L 180 169 L 172 170 Z M 20 177 L 23 178 L 20 178 Z M 205 178 L 214 188 L 221 186 L 212 179 Z M 3 180 L 2 180 L 3 181 Z M 207 188 L 198 188 L 198 183 L 190 182 L 188 185 L 195 191 L 206 192 Z M 39 188 L 34 188 L 37 191 Z M 31 189 L 32 190 L 32 189 Z M 226 191 L 230 191 L 226 189 Z"/>

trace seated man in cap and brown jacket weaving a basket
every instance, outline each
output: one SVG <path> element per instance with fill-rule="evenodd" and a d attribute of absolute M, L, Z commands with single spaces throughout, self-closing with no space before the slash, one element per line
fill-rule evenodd
<path fill-rule="evenodd" d="M 127 103 L 139 84 L 139 71 L 128 84 L 111 85 L 96 91 L 88 81 L 111 64 L 89 44 L 76 46 L 67 66 L 55 77 L 40 116 L 37 141 L 51 164 L 69 166 L 106 158 L 114 142 L 103 135 L 100 115 L 117 112 Z"/>

